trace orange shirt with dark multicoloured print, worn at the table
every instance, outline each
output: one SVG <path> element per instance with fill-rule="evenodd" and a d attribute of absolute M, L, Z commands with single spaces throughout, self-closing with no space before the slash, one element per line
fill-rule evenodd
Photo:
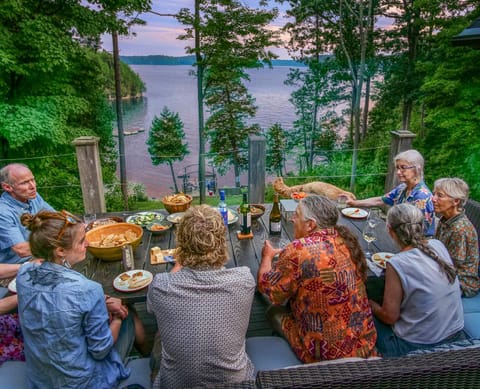
<path fill-rule="evenodd" d="M 376 355 L 365 285 L 335 229 L 290 243 L 258 288 L 273 304 L 290 303 L 282 329 L 303 362 Z"/>

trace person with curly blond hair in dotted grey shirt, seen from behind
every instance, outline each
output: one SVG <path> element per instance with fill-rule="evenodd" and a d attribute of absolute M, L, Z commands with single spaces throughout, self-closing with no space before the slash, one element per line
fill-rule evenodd
<path fill-rule="evenodd" d="M 147 307 L 161 339 L 155 388 L 185 388 L 254 378 L 245 353 L 255 281 L 247 267 L 226 269 L 226 228 L 209 206 L 179 223 L 174 269 L 155 276 Z"/>

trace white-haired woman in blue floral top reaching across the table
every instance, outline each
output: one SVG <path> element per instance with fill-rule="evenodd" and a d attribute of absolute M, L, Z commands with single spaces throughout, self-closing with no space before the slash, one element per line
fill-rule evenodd
<path fill-rule="evenodd" d="M 426 236 L 435 233 L 435 213 L 433 211 L 432 192 L 423 181 L 424 160 L 417 150 L 406 150 L 394 158 L 395 170 L 400 184 L 383 196 L 363 200 L 348 199 L 353 207 L 379 207 L 410 203 L 420 209 L 425 217 L 424 232 Z"/>

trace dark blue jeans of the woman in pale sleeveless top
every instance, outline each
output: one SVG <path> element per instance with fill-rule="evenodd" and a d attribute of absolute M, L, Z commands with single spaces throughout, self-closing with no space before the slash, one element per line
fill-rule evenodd
<path fill-rule="evenodd" d="M 399 338 L 397 335 L 395 335 L 391 326 L 382 323 L 376 317 L 374 317 L 373 320 L 375 321 L 375 328 L 377 329 L 377 343 L 375 346 L 385 358 L 401 357 L 402 355 L 408 354 L 411 351 L 430 349 L 444 343 L 451 343 L 458 340 L 467 339 L 465 332 L 460 330 L 438 343 L 412 343 Z"/>

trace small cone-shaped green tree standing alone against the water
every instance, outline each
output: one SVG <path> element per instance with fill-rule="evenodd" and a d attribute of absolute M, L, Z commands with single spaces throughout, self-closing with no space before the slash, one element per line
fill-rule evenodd
<path fill-rule="evenodd" d="M 155 116 L 148 134 L 148 152 L 152 163 L 168 163 L 172 173 L 172 180 L 175 186 L 175 192 L 178 192 L 175 172 L 173 170 L 174 161 L 182 161 L 189 153 L 188 144 L 183 143 L 185 132 L 183 123 L 178 113 L 173 113 L 167 107 L 163 108 L 160 118 Z"/>

